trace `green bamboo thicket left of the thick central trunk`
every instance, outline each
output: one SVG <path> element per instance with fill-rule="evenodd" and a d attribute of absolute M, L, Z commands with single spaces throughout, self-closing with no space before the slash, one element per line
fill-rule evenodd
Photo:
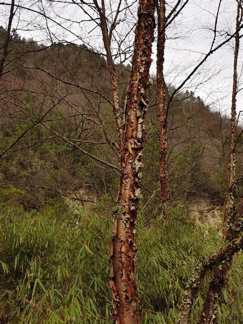
<path fill-rule="evenodd" d="M 46 210 L 25 214 L 21 221 L 13 216 L 1 219 L 1 259 L 6 260 L 1 305 L 9 321 L 107 322 L 109 231 L 103 220 L 64 211 L 51 219 Z"/>

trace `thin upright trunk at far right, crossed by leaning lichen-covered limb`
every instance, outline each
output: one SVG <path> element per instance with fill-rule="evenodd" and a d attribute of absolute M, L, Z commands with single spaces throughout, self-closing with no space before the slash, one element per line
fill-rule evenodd
<path fill-rule="evenodd" d="M 230 240 L 235 233 L 235 224 L 238 224 L 237 213 L 233 213 L 233 189 L 235 183 L 235 131 L 236 131 L 236 95 L 237 95 L 237 60 L 239 53 L 239 27 L 242 21 L 242 3 L 237 0 L 237 17 L 236 17 L 236 34 L 235 34 L 235 52 L 233 68 L 233 90 L 230 120 L 230 151 L 229 151 L 229 170 L 227 177 L 228 192 L 224 205 L 224 227 L 223 233 L 226 240 Z M 227 176 L 227 175 L 226 175 Z M 226 276 L 230 270 L 232 258 L 228 258 L 213 273 L 213 279 L 210 282 L 209 290 L 206 295 L 204 309 L 201 313 L 200 324 L 217 322 L 217 305 L 218 298 L 224 288 Z"/>

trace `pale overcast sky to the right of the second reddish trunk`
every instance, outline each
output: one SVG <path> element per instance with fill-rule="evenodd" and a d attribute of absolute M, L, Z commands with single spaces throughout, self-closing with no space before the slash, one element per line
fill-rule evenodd
<path fill-rule="evenodd" d="M 197 59 L 201 58 L 201 53 L 207 53 L 211 46 L 212 31 L 209 28 L 215 23 L 215 16 L 218 9 L 217 0 L 194 0 L 189 4 L 178 19 L 178 33 L 183 33 L 185 29 L 185 38 L 173 39 L 173 27 L 169 30 L 166 43 L 165 66 L 168 70 L 167 80 L 173 80 L 174 83 L 179 83 L 183 76 L 195 66 Z M 222 1 L 218 17 L 218 30 L 235 31 L 236 18 L 236 1 Z M 181 24 L 181 26 L 180 26 Z M 181 30 L 181 31 L 180 31 Z M 191 33 L 189 32 L 191 30 Z M 242 32 L 241 32 L 242 34 Z M 189 37 L 187 37 L 189 35 Z M 170 39 L 172 37 L 172 39 Z M 220 38 L 220 42 L 223 38 Z M 220 43 L 219 42 L 219 43 Z M 206 65 L 202 67 L 200 79 L 205 80 L 205 84 L 199 85 L 195 90 L 192 82 L 191 90 L 195 90 L 202 99 L 207 103 L 215 106 L 217 110 L 222 112 L 230 112 L 231 93 L 232 93 L 232 77 L 233 77 L 233 58 L 234 58 L 234 42 L 231 41 L 217 52 L 215 52 L 208 60 Z M 242 70 L 243 51 L 242 42 L 238 57 L 238 74 Z M 177 68 L 175 68 L 177 67 Z M 185 67 L 185 70 L 184 70 Z M 180 77 L 175 80 L 176 70 L 181 73 Z M 171 73 L 172 72 L 172 73 Z M 211 77 L 212 76 L 212 77 Z M 208 80 L 207 80 L 208 79 Z M 199 79 L 198 79 L 199 81 Z M 241 83 L 243 79 L 241 77 Z M 187 85 L 188 87 L 189 85 Z M 237 111 L 242 110 L 242 95 L 243 91 L 237 96 Z M 241 119 L 242 120 L 242 119 Z"/>

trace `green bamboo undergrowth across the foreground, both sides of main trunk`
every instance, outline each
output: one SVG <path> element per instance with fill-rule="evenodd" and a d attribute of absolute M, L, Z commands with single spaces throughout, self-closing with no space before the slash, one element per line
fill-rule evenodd
<path fill-rule="evenodd" d="M 222 244 L 216 231 L 206 236 L 204 227 L 189 221 L 183 206 L 173 208 L 168 218 L 157 216 L 148 225 L 139 215 L 138 293 L 147 324 L 175 322 L 198 257 Z M 85 208 L 79 214 L 66 212 L 54 201 L 52 207 L 29 213 L 5 208 L 0 218 L 0 316 L 9 323 L 110 323 L 109 219 Z M 236 258 L 220 323 L 240 322 L 239 266 Z M 204 287 L 201 291 L 192 323 L 199 316 Z"/>

